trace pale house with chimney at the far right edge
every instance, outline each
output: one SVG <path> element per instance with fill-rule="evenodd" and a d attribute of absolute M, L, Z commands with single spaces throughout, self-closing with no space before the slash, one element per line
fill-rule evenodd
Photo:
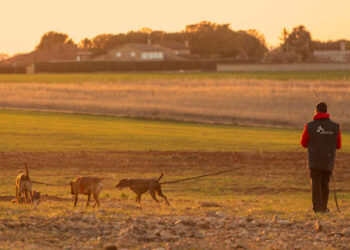
<path fill-rule="evenodd" d="M 317 62 L 350 62 L 350 50 L 346 50 L 345 43 L 340 44 L 340 50 L 314 50 Z"/>

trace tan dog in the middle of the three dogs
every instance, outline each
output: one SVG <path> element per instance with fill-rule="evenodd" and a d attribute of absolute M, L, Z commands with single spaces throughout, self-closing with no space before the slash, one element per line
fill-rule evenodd
<path fill-rule="evenodd" d="M 99 194 L 102 191 L 103 178 L 98 177 L 78 177 L 75 181 L 70 183 L 71 194 L 74 195 L 74 207 L 76 207 L 78 202 L 79 194 L 85 194 L 88 196 L 86 207 L 89 206 L 91 194 L 94 197 L 95 204 L 94 207 L 100 206 Z"/>

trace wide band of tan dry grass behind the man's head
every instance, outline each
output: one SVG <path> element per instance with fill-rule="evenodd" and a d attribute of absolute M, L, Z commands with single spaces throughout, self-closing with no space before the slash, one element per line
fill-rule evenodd
<path fill-rule="evenodd" d="M 316 102 L 350 128 L 349 81 L 153 79 L 116 83 L 1 83 L 0 106 L 300 128 Z"/>

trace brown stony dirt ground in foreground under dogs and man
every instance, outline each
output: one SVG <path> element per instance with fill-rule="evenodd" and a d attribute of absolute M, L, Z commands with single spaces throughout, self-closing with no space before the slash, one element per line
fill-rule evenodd
<path fill-rule="evenodd" d="M 0 153 L 1 249 L 349 249 L 350 154 L 337 156 L 334 176 L 343 215 L 330 197 L 329 215 L 311 213 L 304 152 L 76 152 Z M 102 206 L 72 207 L 66 187 L 34 184 L 38 207 L 10 200 L 28 162 L 31 178 L 56 184 L 77 175 L 106 179 Z M 229 174 L 163 186 L 171 206 L 148 194 L 141 205 L 121 178 L 163 181 L 246 166 Z M 112 249 L 112 248 L 111 248 Z"/>

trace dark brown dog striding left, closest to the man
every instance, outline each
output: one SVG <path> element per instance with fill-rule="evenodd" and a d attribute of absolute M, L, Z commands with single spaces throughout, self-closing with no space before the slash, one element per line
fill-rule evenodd
<path fill-rule="evenodd" d="M 138 203 L 141 203 L 141 195 L 146 193 L 147 191 L 150 192 L 152 198 L 158 203 L 158 199 L 156 197 L 157 192 L 157 194 L 160 197 L 164 198 L 166 203 L 170 205 L 167 197 L 162 193 L 162 189 L 159 183 L 162 177 L 163 173 L 158 179 L 122 179 L 115 187 L 119 189 L 127 187 L 130 188 L 136 193 L 136 202 Z"/>

